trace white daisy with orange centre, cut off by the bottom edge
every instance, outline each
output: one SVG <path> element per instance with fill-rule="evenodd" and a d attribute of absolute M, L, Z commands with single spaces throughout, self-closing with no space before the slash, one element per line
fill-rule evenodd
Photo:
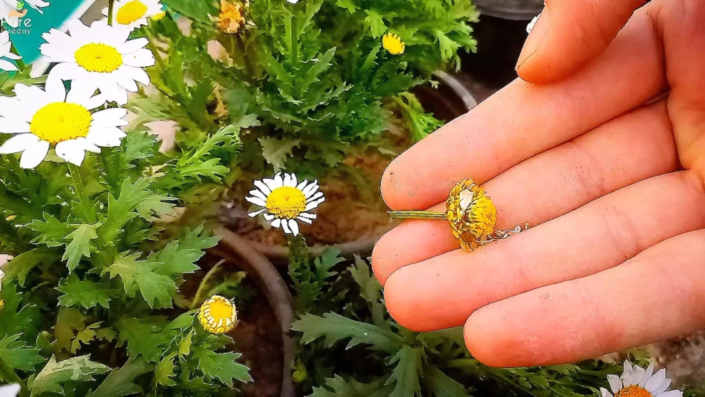
<path fill-rule="evenodd" d="M 650 364 L 646 369 L 630 362 L 624 362 L 624 372 L 621 377 L 617 375 L 607 375 L 612 393 L 607 389 L 600 388 L 602 397 L 682 397 L 680 390 L 668 390 L 670 378 L 666 377 L 666 369 L 659 369 L 654 374 L 654 365 Z"/>

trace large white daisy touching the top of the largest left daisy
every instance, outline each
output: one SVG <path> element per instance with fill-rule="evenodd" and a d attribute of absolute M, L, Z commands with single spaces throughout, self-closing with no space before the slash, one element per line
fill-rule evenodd
<path fill-rule="evenodd" d="M 85 82 L 119 105 L 128 102 L 128 91 L 137 92 L 137 83 L 149 85 L 142 68 L 154 65 L 154 54 L 145 49 L 146 37 L 128 40 L 130 28 L 109 26 L 104 20 L 90 28 L 78 19 L 70 20 L 68 32 L 52 29 L 42 35 L 47 42 L 39 49 L 49 63 L 58 64 L 51 69 L 50 79 Z"/>

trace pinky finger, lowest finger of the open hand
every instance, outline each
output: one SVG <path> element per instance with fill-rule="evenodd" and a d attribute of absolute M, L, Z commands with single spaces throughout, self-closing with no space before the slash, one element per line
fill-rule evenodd
<path fill-rule="evenodd" d="M 705 326 L 705 230 L 668 239 L 601 273 L 477 310 L 470 352 L 487 365 L 577 362 Z"/>

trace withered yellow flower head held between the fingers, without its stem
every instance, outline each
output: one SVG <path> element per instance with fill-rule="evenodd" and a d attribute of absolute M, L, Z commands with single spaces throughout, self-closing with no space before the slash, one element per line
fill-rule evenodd
<path fill-rule="evenodd" d="M 472 251 L 494 234 L 497 208 L 480 186 L 465 179 L 450 191 L 446 219 L 460 247 Z"/>

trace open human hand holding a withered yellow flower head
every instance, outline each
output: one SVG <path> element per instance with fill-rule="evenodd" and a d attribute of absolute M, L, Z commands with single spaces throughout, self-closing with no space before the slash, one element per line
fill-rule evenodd
<path fill-rule="evenodd" d="M 410 148 L 381 186 L 394 210 L 443 211 L 471 177 L 498 229 L 532 225 L 466 253 L 446 222 L 410 220 L 372 255 L 394 319 L 464 324 L 488 365 L 575 362 L 705 327 L 705 2 L 546 3 L 526 81 Z"/>

